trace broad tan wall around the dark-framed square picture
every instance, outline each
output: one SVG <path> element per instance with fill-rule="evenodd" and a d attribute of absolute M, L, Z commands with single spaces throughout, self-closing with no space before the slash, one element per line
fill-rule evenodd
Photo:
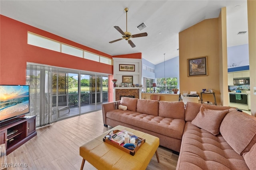
<path fill-rule="evenodd" d="M 180 92 L 213 89 L 220 105 L 220 66 L 218 18 L 204 20 L 179 33 Z M 188 77 L 188 59 L 208 56 L 208 76 Z M 214 102 L 205 95 L 204 102 Z"/>

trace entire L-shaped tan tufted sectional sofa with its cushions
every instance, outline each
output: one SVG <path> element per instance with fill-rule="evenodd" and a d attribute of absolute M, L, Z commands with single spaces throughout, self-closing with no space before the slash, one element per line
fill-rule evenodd
<path fill-rule="evenodd" d="M 105 126 L 149 133 L 180 152 L 176 170 L 256 169 L 256 117 L 232 107 L 122 98 L 102 104 L 102 114 Z"/>

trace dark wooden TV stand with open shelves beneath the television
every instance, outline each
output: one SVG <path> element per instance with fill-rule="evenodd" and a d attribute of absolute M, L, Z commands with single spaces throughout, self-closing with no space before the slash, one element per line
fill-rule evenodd
<path fill-rule="evenodd" d="M 12 119 L 0 124 L 0 144 L 6 146 L 6 155 L 36 136 L 36 115 Z"/>

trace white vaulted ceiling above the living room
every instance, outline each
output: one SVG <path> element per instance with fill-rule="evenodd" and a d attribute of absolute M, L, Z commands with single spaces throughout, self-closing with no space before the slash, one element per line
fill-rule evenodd
<path fill-rule="evenodd" d="M 217 18 L 227 7 L 228 47 L 248 43 L 246 0 L 1 0 L 0 14 L 54 33 L 76 43 L 109 55 L 142 53 L 153 64 L 179 55 L 178 33 L 202 20 Z M 132 38 L 132 48 L 114 29 L 119 26 L 128 32 L 147 32 L 147 37 Z M 147 27 L 139 31 L 140 23 Z"/>

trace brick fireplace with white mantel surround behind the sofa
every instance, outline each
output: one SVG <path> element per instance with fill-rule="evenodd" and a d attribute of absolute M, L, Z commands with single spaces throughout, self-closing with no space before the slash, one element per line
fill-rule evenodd
<path fill-rule="evenodd" d="M 140 99 L 142 88 L 114 88 L 114 100 L 120 100 L 120 96 L 127 96 Z"/>

